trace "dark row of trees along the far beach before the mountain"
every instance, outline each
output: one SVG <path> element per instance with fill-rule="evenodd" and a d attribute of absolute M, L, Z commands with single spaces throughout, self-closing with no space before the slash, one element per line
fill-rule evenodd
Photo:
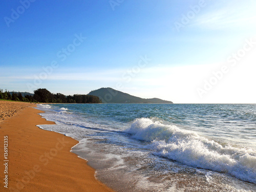
<path fill-rule="evenodd" d="M 101 103 L 101 99 L 97 96 L 80 94 L 66 96 L 61 93 L 53 94 L 47 89 L 37 89 L 33 96 L 25 95 L 24 97 L 20 92 L 11 94 L 7 90 L 3 92 L 0 89 L 0 99 L 43 103 Z"/>

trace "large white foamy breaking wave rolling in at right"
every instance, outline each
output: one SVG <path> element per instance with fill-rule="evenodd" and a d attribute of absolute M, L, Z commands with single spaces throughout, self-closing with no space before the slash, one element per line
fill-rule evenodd
<path fill-rule="evenodd" d="M 256 183 L 256 152 L 253 150 L 222 146 L 196 132 L 146 118 L 136 119 L 126 132 L 132 134 L 132 138 L 151 141 L 146 147 L 155 155 Z"/>

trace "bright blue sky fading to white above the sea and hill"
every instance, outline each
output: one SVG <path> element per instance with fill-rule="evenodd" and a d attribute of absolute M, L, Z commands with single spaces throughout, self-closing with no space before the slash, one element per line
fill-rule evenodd
<path fill-rule="evenodd" d="M 255 1 L 1 1 L 0 88 L 255 103 Z"/>

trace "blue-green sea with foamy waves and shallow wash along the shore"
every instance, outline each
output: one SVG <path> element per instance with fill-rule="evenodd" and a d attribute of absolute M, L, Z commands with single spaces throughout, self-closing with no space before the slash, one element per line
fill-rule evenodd
<path fill-rule="evenodd" d="M 256 104 L 39 104 L 117 191 L 256 191 Z"/>

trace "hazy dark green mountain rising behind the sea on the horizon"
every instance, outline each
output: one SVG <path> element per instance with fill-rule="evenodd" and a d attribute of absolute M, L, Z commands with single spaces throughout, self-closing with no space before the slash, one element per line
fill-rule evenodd
<path fill-rule="evenodd" d="M 166 101 L 158 98 L 143 99 L 112 88 L 100 88 L 98 90 L 91 91 L 88 95 L 98 96 L 103 103 L 173 103 L 172 101 Z"/>

